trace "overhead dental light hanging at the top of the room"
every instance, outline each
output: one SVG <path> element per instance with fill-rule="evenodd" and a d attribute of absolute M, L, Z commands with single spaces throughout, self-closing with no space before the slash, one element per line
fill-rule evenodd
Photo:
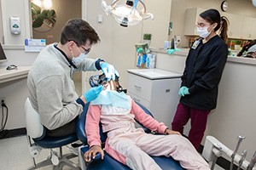
<path fill-rule="evenodd" d="M 120 26 L 135 26 L 142 20 L 154 19 L 154 15 L 146 13 L 146 6 L 141 0 L 126 0 L 119 4 L 121 0 L 113 0 L 109 6 L 102 0 L 102 8 L 106 14 L 111 14 Z"/>

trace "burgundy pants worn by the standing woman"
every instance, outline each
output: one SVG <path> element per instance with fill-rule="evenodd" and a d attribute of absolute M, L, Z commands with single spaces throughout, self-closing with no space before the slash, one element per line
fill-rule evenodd
<path fill-rule="evenodd" d="M 183 128 L 190 118 L 189 141 L 194 145 L 195 150 L 198 150 L 207 127 L 207 116 L 209 113 L 210 111 L 193 109 L 179 103 L 172 121 L 172 130 L 183 134 Z"/>

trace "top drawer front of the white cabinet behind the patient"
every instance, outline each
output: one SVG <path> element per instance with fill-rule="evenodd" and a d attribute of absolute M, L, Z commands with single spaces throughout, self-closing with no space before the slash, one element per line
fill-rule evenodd
<path fill-rule="evenodd" d="M 150 100 L 152 90 L 152 81 L 138 77 L 133 74 L 128 74 L 128 92 L 136 94 L 138 97 Z"/>

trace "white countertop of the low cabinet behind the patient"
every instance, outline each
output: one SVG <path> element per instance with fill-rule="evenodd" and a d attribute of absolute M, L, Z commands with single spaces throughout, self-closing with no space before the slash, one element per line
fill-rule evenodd
<path fill-rule="evenodd" d="M 172 72 L 172 71 L 165 71 L 161 69 L 129 69 L 127 71 L 131 74 L 145 77 L 150 80 L 177 78 L 182 76 L 179 73 Z"/>

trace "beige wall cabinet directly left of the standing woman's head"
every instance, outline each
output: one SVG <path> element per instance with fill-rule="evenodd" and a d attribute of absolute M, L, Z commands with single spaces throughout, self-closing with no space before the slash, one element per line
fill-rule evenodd
<path fill-rule="evenodd" d="M 184 26 L 184 35 L 185 36 L 198 36 L 195 24 L 197 23 L 197 17 L 206 9 L 204 8 L 187 8 L 186 9 L 186 18 Z"/>

